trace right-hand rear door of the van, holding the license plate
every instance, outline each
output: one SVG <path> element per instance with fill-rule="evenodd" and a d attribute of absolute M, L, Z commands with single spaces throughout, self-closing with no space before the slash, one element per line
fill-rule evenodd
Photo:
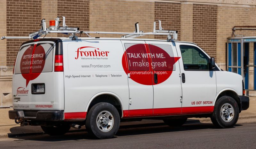
<path fill-rule="evenodd" d="M 54 108 L 53 43 L 38 42 L 32 52 L 30 75 L 31 109 Z"/>

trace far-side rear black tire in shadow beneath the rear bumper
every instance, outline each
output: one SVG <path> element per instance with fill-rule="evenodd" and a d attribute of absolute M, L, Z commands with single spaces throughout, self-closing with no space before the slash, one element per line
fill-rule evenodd
<path fill-rule="evenodd" d="M 68 130 L 70 129 L 69 124 L 59 124 L 56 126 L 41 126 L 41 128 L 43 129 L 44 133 L 51 135 L 51 136 L 58 136 L 58 135 L 64 135 L 65 133 L 68 132 Z"/>

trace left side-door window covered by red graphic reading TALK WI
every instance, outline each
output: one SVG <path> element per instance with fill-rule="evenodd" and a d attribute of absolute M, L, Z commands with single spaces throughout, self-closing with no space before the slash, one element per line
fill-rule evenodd
<path fill-rule="evenodd" d="M 130 71 L 148 71 L 149 56 L 145 44 L 126 43 L 126 56 Z"/>

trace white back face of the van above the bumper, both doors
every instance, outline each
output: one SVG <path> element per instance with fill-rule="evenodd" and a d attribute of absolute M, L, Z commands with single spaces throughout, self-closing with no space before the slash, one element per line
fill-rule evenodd
<path fill-rule="evenodd" d="M 46 40 L 20 48 L 13 75 L 14 109 L 64 108 L 63 72 L 54 72 L 54 48 L 55 42 Z"/>

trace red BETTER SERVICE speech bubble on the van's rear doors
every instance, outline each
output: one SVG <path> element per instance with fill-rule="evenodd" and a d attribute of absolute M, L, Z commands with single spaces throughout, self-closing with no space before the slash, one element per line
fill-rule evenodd
<path fill-rule="evenodd" d="M 39 46 L 29 47 L 21 57 L 20 72 L 26 79 L 26 87 L 30 80 L 36 79 L 44 69 L 45 64 L 44 48 Z"/>

